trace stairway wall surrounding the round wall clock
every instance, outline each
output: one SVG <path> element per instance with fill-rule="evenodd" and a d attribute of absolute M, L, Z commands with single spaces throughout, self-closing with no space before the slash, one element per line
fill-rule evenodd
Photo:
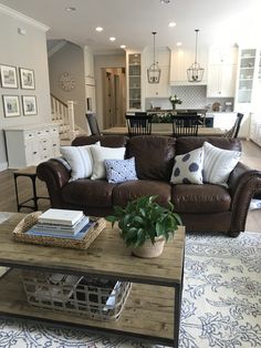
<path fill-rule="evenodd" d="M 60 76 L 64 72 L 74 76 L 76 84 L 72 91 L 64 91 L 59 86 Z M 49 74 L 51 93 L 64 103 L 74 101 L 76 103 L 75 123 L 86 129 L 83 49 L 66 42 L 61 50 L 49 59 Z"/>

